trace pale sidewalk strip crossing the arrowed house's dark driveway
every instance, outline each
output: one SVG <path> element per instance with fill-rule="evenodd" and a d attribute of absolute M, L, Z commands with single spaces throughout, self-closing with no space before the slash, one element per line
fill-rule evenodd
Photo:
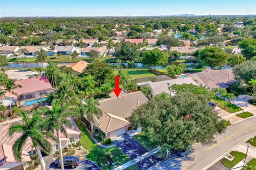
<path fill-rule="evenodd" d="M 145 159 L 145 158 L 147 158 L 147 157 L 149 157 L 149 156 L 151 156 L 151 155 L 156 154 L 159 150 L 160 150 L 159 147 L 157 147 L 157 148 L 155 148 L 155 149 L 153 149 L 153 150 L 150 150 L 149 152 L 147 152 L 147 153 L 141 155 L 140 157 L 137 157 L 137 158 L 135 158 L 135 159 L 132 159 L 132 160 L 130 160 L 129 162 L 127 162 L 127 163 L 125 163 L 125 164 L 123 164 L 123 165 L 121 165 L 121 166 L 118 166 L 118 167 L 115 168 L 114 170 L 125 169 L 125 168 L 127 168 L 127 167 L 129 167 L 129 166 L 131 166 L 131 165 L 133 165 L 133 164 L 136 164 L 136 163 L 140 162 L 141 160 L 143 160 L 143 159 Z"/>

